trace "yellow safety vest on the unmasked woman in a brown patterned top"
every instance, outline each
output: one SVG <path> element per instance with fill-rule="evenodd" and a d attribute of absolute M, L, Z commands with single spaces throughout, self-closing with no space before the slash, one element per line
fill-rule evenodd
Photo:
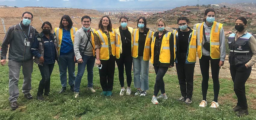
<path fill-rule="evenodd" d="M 99 54 L 100 60 L 108 60 L 109 59 L 108 37 L 101 30 L 97 30 L 95 33 L 96 35 L 98 35 L 101 43 L 100 54 Z M 112 55 L 115 56 L 116 35 L 114 32 L 114 29 L 112 29 L 112 32 L 109 31 L 109 36 L 110 36 L 110 42 L 111 42 L 111 52 L 112 52 Z"/>

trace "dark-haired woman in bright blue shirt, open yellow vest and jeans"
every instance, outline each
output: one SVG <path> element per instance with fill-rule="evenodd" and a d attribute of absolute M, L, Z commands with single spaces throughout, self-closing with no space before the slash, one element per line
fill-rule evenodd
<path fill-rule="evenodd" d="M 58 43 L 59 52 L 59 70 L 61 77 L 61 91 L 63 93 L 66 91 L 67 87 L 67 69 L 68 69 L 68 84 L 70 85 L 70 90 L 74 91 L 74 81 L 75 76 L 75 62 L 74 62 L 74 38 L 77 28 L 72 27 L 73 22 L 68 15 L 64 15 L 61 18 L 60 26 L 55 28 L 55 35 Z"/>

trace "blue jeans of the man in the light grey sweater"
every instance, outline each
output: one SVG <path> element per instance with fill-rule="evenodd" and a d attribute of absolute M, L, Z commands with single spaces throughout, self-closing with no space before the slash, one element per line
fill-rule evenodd
<path fill-rule="evenodd" d="M 86 65 L 87 65 L 87 80 L 88 80 L 87 87 L 92 87 L 94 62 L 95 62 L 94 56 L 83 55 L 83 63 L 78 63 L 78 71 L 76 74 L 75 88 L 74 88 L 75 92 L 79 92 L 81 79 L 83 77 L 83 73 Z"/>

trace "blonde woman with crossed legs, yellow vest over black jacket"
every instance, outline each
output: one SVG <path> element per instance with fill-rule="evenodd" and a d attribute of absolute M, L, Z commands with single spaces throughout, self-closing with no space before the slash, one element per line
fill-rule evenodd
<path fill-rule="evenodd" d="M 163 77 L 168 68 L 173 67 L 174 64 L 173 41 L 170 41 L 172 32 L 168 32 L 165 27 L 166 23 L 164 19 L 158 19 L 156 22 L 157 32 L 151 37 L 150 62 L 153 64 L 156 73 L 154 95 L 151 100 L 153 104 L 158 104 L 158 99 L 167 99 Z M 161 95 L 156 97 L 160 90 Z"/>

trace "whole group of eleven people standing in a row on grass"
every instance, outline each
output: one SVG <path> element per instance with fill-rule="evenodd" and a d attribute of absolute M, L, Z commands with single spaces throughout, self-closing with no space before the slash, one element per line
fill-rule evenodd
<path fill-rule="evenodd" d="M 24 75 L 22 91 L 24 97 L 32 99 L 31 73 L 34 62 L 38 64 L 42 79 L 39 83 L 37 99 L 43 100 L 43 94 L 50 92 L 50 76 L 58 61 L 61 80 L 61 91 L 67 89 L 74 92 L 74 97 L 79 96 L 80 83 L 87 66 L 88 89 L 93 89 L 93 67 L 96 63 L 99 68 L 101 95 L 111 96 L 114 83 L 115 62 L 119 72 L 121 90 L 119 95 L 131 95 L 131 70 L 133 66 L 134 87 L 136 96 L 147 95 L 149 89 L 148 69 L 149 61 L 153 64 L 156 78 L 153 104 L 158 104 L 159 99 L 167 99 L 163 77 L 168 68 L 176 64 L 177 75 L 180 84 L 181 97 L 178 101 L 186 104 L 192 103 L 193 77 L 196 62 L 196 53 L 202 73 L 202 96 L 199 107 L 206 107 L 207 90 L 209 80 L 209 66 L 214 86 L 214 100 L 212 108 L 218 108 L 218 95 L 220 90 L 219 70 L 225 60 L 225 36 L 223 24 L 215 22 L 214 9 L 206 9 L 204 22 L 198 24 L 196 29 L 191 29 L 189 19 L 185 16 L 177 19 L 178 29 L 167 31 L 164 19 L 156 22 L 157 32 L 147 28 L 145 17 L 139 17 L 137 28 L 128 27 L 128 18 L 120 17 L 120 26 L 112 28 L 111 19 L 102 16 L 98 30 L 91 28 L 91 18 L 83 16 L 82 27 L 77 29 L 68 15 L 61 18 L 60 25 L 52 33 L 50 22 L 42 24 L 42 32 L 38 33 L 30 22 L 33 14 L 25 12 L 22 21 L 8 29 L 2 43 L 1 64 L 6 62 L 6 54 L 9 48 L 9 101 L 13 110 L 17 109 L 19 96 L 18 80 L 22 66 Z M 245 97 L 245 82 L 250 76 L 251 66 L 256 62 L 256 40 L 245 28 L 247 20 L 239 17 L 235 22 L 237 30 L 229 36 L 230 49 L 229 63 L 230 73 L 234 82 L 234 91 L 238 98 L 237 106 L 233 109 L 239 111 L 237 116 L 248 115 L 247 101 Z M 23 46 L 24 44 L 24 46 Z M 75 76 L 75 62 L 78 63 L 78 71 Z M 133 64 L 133 65 L 132 65 Z M 126 73 L 127 88 L 124 88 L 124 67 Z M 158 96 L 161 90 L 161 95 Z M 157 97 L 158 96 L 158 97 Z"/>

